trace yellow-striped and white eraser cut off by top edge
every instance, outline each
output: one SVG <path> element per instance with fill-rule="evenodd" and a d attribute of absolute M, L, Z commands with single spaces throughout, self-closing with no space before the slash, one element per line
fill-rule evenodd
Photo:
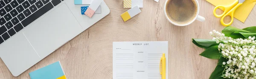
<path fill-rule="evenodd" d="M 143 8 L 143 0 L 124 0 L 124 8 L 132 8 L 138 6 Z"/>

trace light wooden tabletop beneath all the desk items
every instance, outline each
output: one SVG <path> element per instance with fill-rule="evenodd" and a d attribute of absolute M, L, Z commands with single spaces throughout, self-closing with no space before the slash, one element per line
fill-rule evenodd
<path fill-rule="evenodd" d="M 169 79 L 208 79 L 218 60 L 199 56 L 204 49 L 192 43 L 192 38 L 212 39 L 209 31 L 221 31 L 220 18 L 213 16 L 215 6 L 206 0 L 198 0 L 199 15 L 205 22 L 178 27 L 166 20 L 163 7 L 166 0 L 158 3 L 144 0 L 141 13 L 123 22 L 120 14 L 123 0 L 105 0 L 110 14 L 94 24 L 67 44 L 14 77 L 0 59 L 0 79 L 30 79 L 29 72 L 60 61 L 67 79 L 112 79 L 112 42 L 116 41 L 169 41 Z M 256 25 L 256 8 L 245 23 L 234 19 L 238 28 Z"/>

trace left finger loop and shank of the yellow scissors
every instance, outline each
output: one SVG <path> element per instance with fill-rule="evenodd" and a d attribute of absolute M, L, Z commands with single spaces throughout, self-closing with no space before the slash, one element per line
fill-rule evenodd
<path fill-rule="evenodd" d="M 232 9 L 234 6 L 236 6 L 236 4 L 238 3 L 239 0 L 235 0 L 234 3 L 230 4 L 230 5 L 227 5 L 227 6 L 223 6 L 223 5 L 219 5 L 219 6 L 216 6 L 214 9 L 213 9 L 213 15 L 215 17 L 222 17 L 224 14 L 226 14 L 228 11 L 230 11 L 230 9 Z M 224 11 L 221 15 L 218 15 L 216 14 L 216 10 L 218 8 L 222 8 L 222 10 Z"/>

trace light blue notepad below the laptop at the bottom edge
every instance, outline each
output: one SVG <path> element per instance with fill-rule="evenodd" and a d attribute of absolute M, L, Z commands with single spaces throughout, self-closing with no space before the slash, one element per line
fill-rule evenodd
<path fill-rule="evenodd" d="M 31 79 L 67 79 L 59 61 L 33 71 L 29 76 Z"/>

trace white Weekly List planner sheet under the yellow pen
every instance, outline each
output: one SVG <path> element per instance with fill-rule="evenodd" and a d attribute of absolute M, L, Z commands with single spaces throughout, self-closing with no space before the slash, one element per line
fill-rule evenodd
<path fill-rule="evenodd" d="M 113 79 L 161 79 L 160 58 L 166 55 L 168 79 L 168 42 L 113 42 Z"/>

